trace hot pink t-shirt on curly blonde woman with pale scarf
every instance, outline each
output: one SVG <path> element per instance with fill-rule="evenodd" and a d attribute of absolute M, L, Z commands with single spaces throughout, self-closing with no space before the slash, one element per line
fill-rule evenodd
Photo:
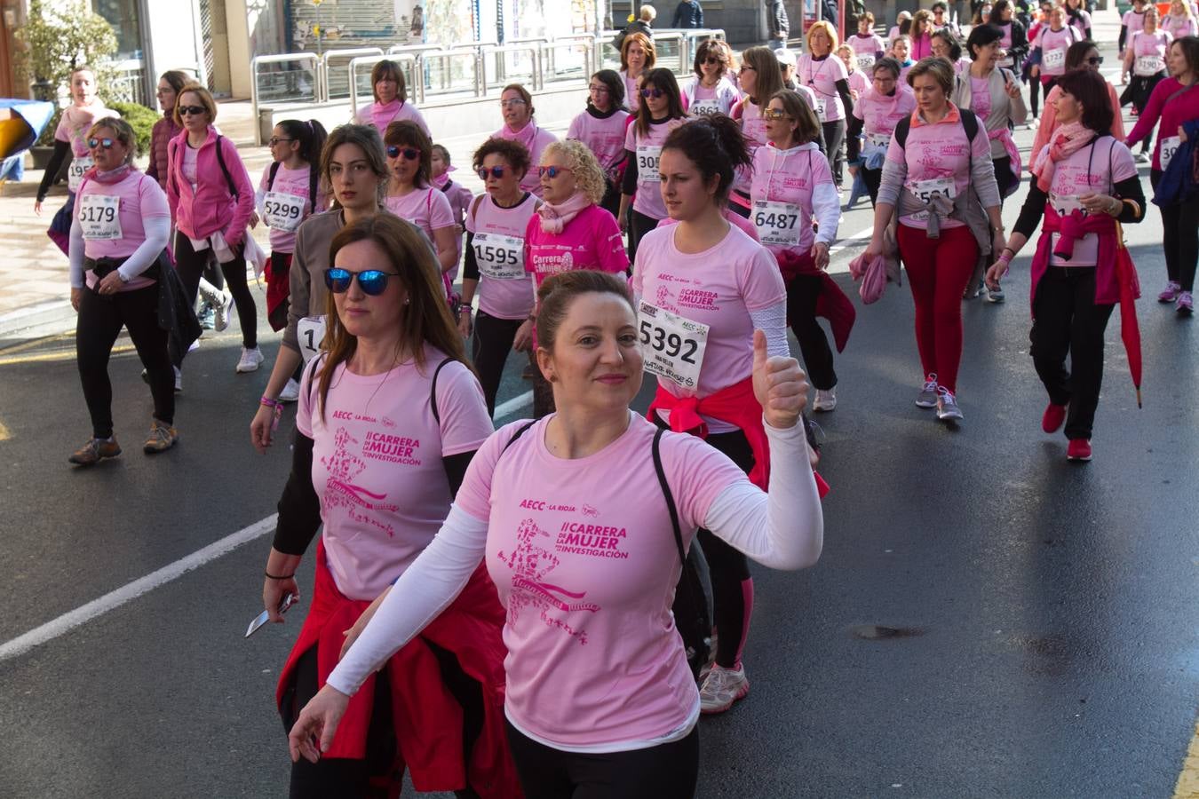
<path fill-rule="evenodd" d="M 560 234 L 543 231 L 536 214 L 525 226 L 525 272 L 532 273 L 538 286 L 552 274 L 574 270 L 613 274 L 628 270 L 616 218 L 598 205 L 579 211 Z"/>

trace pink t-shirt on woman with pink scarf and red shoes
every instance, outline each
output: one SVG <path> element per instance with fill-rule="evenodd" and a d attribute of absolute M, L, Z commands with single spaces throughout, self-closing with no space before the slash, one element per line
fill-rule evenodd
<path fill-rule="evenodd" d="M 1048 150 L 1046 145 L 1044 150 Z M 1042 150 L 1042 152 L 1044 151 Z M 1110 168 L 1109 168 L 1110 164 Z M 1137 176 L 1137 162 L 1132 151 L 1111 137 L 1095 139 L 1089 146 L 1071 153 L 1054 167 L 1049 186 L 1049 204 L 1059 213 L 1068 213 L 1080 207 L 1078 198 L 1097 192 L 1111 194 L 1120 181 Z M 1053 234 L 1052 246 L 1058 246 L 1058 234 Z M 1052 252 L 1052 250 L 1050 250 Z M 1074 256 L 1068 261 L 1056 255 L 1049 256 L 1053 266 L 1095 266 L 1098 262 L 1099 237 L 1087 234 L 1074 242 Z"/>

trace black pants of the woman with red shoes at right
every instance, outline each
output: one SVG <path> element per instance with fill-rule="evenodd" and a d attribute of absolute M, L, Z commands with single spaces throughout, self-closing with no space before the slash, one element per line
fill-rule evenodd
<path fill-rule="evenodd" d="M 1049 401 L 1070 406 L 1067 438 L 1091 437 L 1103 382 L 1103 332 L 1114 307 L 1095 304 L 1095 267 L 1050 266 L 1037 284 L 1029 333 L 1032 365 Z"/>

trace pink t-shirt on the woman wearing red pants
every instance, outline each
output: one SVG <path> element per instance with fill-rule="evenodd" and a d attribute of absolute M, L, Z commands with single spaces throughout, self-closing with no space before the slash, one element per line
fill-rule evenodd
<path fill-rule="evenodd" d="M 899 164 L 906 172 L 904 190 L 918 189 L 917 183 L 922 181 L 952 178 L 954 194 L 960 195 L 970 184 L 971 155 L 975 159 L 990 157 L 987 132 L 980 127 L 974 141 L 970 141 L 962 127 L 958 109 L 953 105 L 950 109 L 945 119 L 935 125 L 927 125 L 920 119 L 918 111 L 912 111 L 906 147 L 900 147 L 894 138 L 891 139 L 887 161 Z M 910 214 L 899 217 L 899 222 L 909 228 L 928 228 L 927 219 L 916 219 Z M 959 228 L 963 224 L 965 223 L 957 219 L 941 220 L 941 228 Z"/>

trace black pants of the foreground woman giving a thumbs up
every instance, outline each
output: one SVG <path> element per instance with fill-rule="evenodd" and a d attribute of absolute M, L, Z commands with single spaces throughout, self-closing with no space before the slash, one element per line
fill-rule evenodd
<path fill-rule="evenodd" d="M 524 736 L 505 721 L 526 799 L 692 799 L 699 779 L 699 725 L 650 749 L 584 755 Z"/>

